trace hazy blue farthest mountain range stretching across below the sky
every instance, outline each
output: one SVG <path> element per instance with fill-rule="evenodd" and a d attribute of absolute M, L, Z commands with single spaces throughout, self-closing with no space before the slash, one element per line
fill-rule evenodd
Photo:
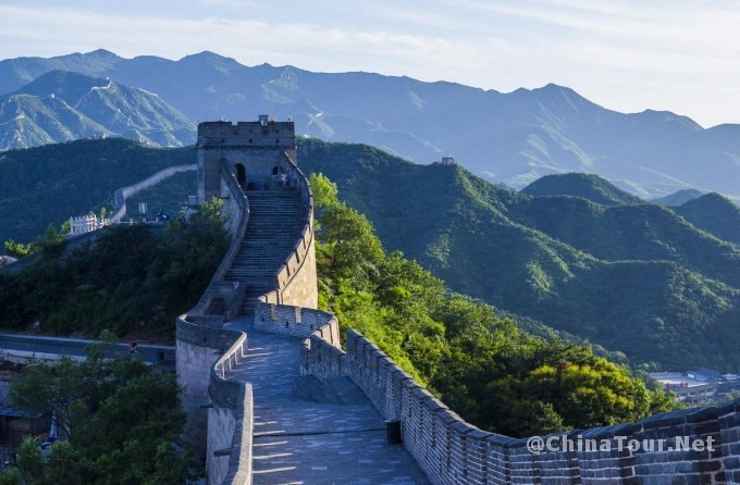
<path fill-rule="evenodd" d="M 250 67 L 211 52 L 171 61 L 98 50 L 2 61 L 0 94 L 53 70 L 146 89 L 194 121 L 271 112 L 293 116 L 297 133 L 366 142 L 420 163 L 452 154 L 517 188 L 547 174 L 588 172 L 643 198 L 687 188 L 740 196 L 740 126 L 704 129 L 670 112 L 618 113 L 556 85 L 502 94 L 369 73 Z"/>

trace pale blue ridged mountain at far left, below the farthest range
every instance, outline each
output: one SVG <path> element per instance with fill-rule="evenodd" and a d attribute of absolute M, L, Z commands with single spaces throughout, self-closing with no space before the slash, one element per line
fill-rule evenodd
<path fill-rule="evenodd" d="M 195 124 L 155 94 L 66 71 L 0 97 L 0 149 L 107 136 L 177 147 L 195 141 Z"/>

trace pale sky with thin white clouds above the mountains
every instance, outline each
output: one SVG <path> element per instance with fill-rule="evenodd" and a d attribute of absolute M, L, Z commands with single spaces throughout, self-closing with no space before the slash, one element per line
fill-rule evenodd
<path fill-rule="evenodd" d="M 210 50 L 503 92 L 555 83 L 621 112 L 740 123 L 735 0 L 0 0 L 0 59 Z"/>

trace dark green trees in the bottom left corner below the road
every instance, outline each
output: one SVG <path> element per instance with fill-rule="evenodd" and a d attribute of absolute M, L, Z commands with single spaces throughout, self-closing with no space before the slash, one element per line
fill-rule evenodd
<path fill-rule="evenodd" d="M 16 407 L 57 416 L 62 439 L 27 437 L 0 485 L 177 485 L 195 470 L 175 445 L 185 424 L 174 376 L 133 358 L 35 364 L 11 385 Z"/>

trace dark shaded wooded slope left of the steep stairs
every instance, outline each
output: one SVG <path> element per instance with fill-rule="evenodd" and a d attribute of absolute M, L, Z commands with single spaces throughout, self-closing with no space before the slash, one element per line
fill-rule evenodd
<path fill-rule="evenodd" d="M 83 242 L 49 229 L 23 271 L 0 272 L 0 327 L 39 321 L 59 335 L 172 341 L 175 318 L 198 301 L 226 250 L 222 204 L 164 227 L 112 226 Z"/>

